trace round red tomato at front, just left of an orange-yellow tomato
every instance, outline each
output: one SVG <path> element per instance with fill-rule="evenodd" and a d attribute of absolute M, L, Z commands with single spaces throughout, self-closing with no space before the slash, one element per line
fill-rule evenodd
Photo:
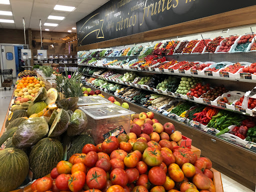
<path fill-rule="evenodd" d="M 148 179 L 154 185 L 163 185 L 166 180 L 166 174 L 159 166 L 154 166 L 148 171 Z"/>

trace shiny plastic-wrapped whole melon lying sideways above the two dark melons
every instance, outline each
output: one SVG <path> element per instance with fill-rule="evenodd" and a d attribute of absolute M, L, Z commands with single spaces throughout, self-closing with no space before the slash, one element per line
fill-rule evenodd
<path fill-rule="evenodd" d="M 23 121 L 12 137 L 15 147 L 30 147 L 47 135 L 48 124 L 40 117 L 32 117 Z"/>

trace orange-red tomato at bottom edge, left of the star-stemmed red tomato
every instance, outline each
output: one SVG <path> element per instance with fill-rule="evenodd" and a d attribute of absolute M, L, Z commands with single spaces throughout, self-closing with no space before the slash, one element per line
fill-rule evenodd
<path fill-rule="evenodd" d="M 73 191 L 77 192 L 82 189 L 85 183 L 86 175 L 84 172 L 78 170 L 71 174 L 68 179 L 68 188 Z"/>

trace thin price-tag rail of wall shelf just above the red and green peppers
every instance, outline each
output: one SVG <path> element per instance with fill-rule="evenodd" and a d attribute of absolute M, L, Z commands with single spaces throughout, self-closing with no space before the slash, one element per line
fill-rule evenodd
<path fill-rule="evenodd" d="M 94 77 L 94 78 L 100 78 L 100 79 L 107 80 L 107 81 L 114 82 L 114 83 L 123 84 L 123 85 L 126 85 L 126 86 L 131 86 L 131 87 L 142 89 L 142 90 L 148 90 L 148 91 L 151 91 L 151 92 L 164 94 L 164 95 L 171 96 L 171 97 L 178 98 L 178 99 L 183 99 L 183 100 L 187 100 L 187 101 L 191 101 L 191 102 L 195 102 L 195 103 L 199 103 L 199 104 L 204 104 L 204 105 L 207 105 L 207 106 L 212 106 L 212 107 L 219 108 L 219 109 L 224 109 L 224 110 L 228 110 L 228 111 L 232 111 L 232 112 L 236 112 L 236 113 L 240 113 L 240 114 L 244 114 L 244 115 L 248 115 L 248 116 L 256 116 L 255 114 L 249 114 L 249 113 L 246 113 L 246 112 L 240 112 L 240 111 L 237 111 L 237 110 L 232 110 L 232 109 L 229 109 L 229 108 L 219 107 L 219 106 L 215 106 L 215 105 L 212 105 L 212 104 L 206 104 L 204 102 L 199 102 L 199 101 L 196 101 L 196 100 L 191 100 L 191 99 L 178 97 L 178 96 L 175 96 L 173 94 L 168 94 L 166 91 L 160 92 L 160 91 L 154 91 L 152 89 L 149 90 L 147 88 L 141 88 L 141 86 L 139 86 L 139 85 L 130 85 L 129 83 L 126 84 L 126 83 L 116 82 L 116 81 L 113 81 L 113 80 L 109 80 L 109 79 L 106 79 L 106 78 L 99 77 L 98 75 L 93 76 L 93 75 L 89 75 L 89 74 L 85 74 L 85 73 L 82 73 L 82 74 L 87 75 L 87 76 L 91 76 L 91 77 Z"/>

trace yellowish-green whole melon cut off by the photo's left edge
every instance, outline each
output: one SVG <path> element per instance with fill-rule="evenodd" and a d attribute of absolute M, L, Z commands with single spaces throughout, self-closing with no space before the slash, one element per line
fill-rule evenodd
<path fill-rule="evenodd" d="M 23 150 L 0 150 L 0 192 L 16 189 L 25 180 L 28 170 L 28 158 Z"/>

